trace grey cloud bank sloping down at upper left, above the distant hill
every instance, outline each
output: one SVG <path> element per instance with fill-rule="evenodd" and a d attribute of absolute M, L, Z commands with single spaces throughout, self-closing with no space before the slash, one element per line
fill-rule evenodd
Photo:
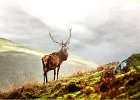
<path fill-rule="evenodd" d="M 50 27 L 24 11 L 15 0 L 1 2 L 0 11 L 0 37 L 34 47 L 43 45 L 42 37 L 45 43 L 48 41 Z"/>

